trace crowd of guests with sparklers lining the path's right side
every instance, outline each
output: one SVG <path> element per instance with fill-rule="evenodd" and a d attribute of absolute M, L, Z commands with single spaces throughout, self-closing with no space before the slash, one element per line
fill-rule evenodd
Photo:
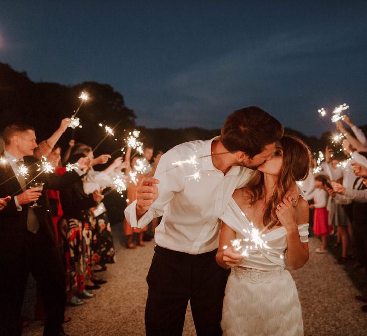
<path fill-rule="evenodd" d="M 349 116 L 343 121 L 354 135 L 342 121 L 337 123 L 342 144 L 326 147 L 325 161 L 317 165 L 315 160 L 302 189 L 313 212 L 313 232 L 321 238 L 316 252 L 327 253 L 328 237 L 336 234 L 333 248 L 341 245 L 341 256 L 335 263 L 354 260 L 354 268 L 367 272 L 367 139 Z M 367 303 L 367 297 L 355 298 Z M 361 308 L 367 312 L 367 305 Z"/>

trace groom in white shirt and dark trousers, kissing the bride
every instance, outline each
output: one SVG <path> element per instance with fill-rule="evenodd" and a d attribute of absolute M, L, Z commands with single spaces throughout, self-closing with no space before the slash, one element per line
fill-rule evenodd
<path fill-rule="evenodd" d="M 221 136 L 172 148 L 162 155 L 155 178 L 144 178 L 125 216 L 140 228 L 163 216 L 147 277 L 147 335 L 181 335 L 189 300 L 196 333 L 222 334 L 229 270 L 215 262 L 218 218 L 282 136 L 274 117 L 258 107 L 243 108 L 227 117 Z"/>

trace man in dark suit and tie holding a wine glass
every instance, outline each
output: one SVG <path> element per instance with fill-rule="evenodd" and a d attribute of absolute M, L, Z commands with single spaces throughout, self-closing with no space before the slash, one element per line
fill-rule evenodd
<path fill-rule="evenodd" d="M 37 171 L 39 161 L 32 156 L 36 136 L 31 126 L 8 125 L 3 139 L 6 147 L 0 154 L 0 197 L 11 199 L 0 211 L 0 335 L 22 333 L 21 309 L 29 272 L 37 281 L 45 307 L 43 334 L 65 335 L 65 275 L 45 190 L 74 183 L 83 172 L 58 176 Z M 21 165 L 28 167 L 28 176 L 19 173 Z M 44 183 L 43 190 L 29 189 L 33 179 Z M 40 207 L 31 207 L 34 201 Z"/>

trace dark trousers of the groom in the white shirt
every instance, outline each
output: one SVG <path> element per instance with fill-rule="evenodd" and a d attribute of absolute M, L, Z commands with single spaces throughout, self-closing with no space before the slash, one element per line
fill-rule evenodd
<path fill-rule="evenodd" d="M 182 335 L 189 300 L 197 335 L 222 334 L 222 305 L 230 270 L 217 265 L 216 251 L 190 255 L 155 247 L 147 277 L 148 336 Z"/>

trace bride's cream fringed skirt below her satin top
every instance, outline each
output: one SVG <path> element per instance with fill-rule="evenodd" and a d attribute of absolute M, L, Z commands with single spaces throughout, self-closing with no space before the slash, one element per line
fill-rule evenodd
<path fill-rule="evenodd" d="M 221 327 L 224 336 L 303 335 L 300 300 L 290 273 L 233 268 Z"/>

